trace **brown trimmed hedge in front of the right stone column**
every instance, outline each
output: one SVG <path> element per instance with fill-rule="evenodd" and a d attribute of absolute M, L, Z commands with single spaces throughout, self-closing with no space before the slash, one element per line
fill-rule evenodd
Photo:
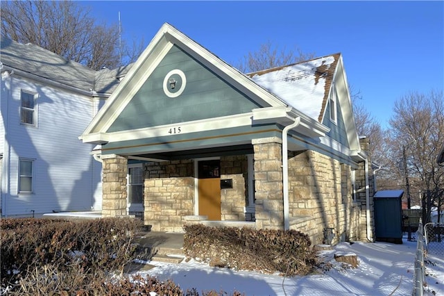
<path fill-rule="evenodd" d="M 204 258 L 212 266 L 293 276 L 308 274 L 316 265 L 309 236 L 299 231 L 200 224 L 184 229 L 185 255 Z"/>

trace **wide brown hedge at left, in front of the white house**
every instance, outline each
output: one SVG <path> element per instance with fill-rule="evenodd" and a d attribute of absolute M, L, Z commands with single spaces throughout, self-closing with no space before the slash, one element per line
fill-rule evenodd
<path fill-rule="evenodd" d="M 121 218 L 76 222 L 6 218 L 0 223 L 2 287 L 48 266 L 59 278 L 69 270 L 86 274 L 123 270 L 135 251 L 133 238 L 140 227 L 139 220 Z"/>

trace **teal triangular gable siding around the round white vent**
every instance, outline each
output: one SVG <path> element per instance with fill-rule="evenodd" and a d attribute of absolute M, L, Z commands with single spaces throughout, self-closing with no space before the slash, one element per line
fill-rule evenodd
<path fill-rule="evenodd" d="M 187 83 L 182 94 L 171 98 L 164 93 L 163 81 L 173 69 L 180 69 Z M 258 107 L 185 51 L 173 46 L 108 132 L 248 113 Z"/>

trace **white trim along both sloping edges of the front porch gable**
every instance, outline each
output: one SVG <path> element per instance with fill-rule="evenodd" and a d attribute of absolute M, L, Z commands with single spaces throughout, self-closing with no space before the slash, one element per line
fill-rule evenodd
<path fill-rule="evenodd" d="M 305 133 L 321 136 L 328 131 L 328 128 L 318 122 L 318 120 L 314 120 L 299 110 L 294 110 L 292 106 L 289 106 L 276 94 L 266 90 L 266 88 L 262 88 L 253 79 L 250 79 L 249 76 L 239 72 L 239 70 L 228 65 L 221 58 L 215 56 L 194 40 L 191 40 L 187 35 L 165 23 L 150 44 L 148 44 L 142 55 L 139 56 L 137 62 L 128 71 L 125 82 L 116 88 L 105 106 L 99 110 L 99 113 L 87 126 L 83 135 L 80 136 L 81 139 L 85 142 L 107 142 L 105 138 L 108 138 L 108 136 L 105 133 L 112 122 L 116 120 L 135 92 L 142 87 L 143 83 L 153 73 L 154 69 L 174 44 L 189 54 L 194 60 L 205 65 L 214 74 L 228 81 L 239 92 L 246 94 L 260 106 L 268 107 L 253 109 L 253 121 L 257 123 L 278 122 L 282 125 L 287 125 L 293 122 L 295 117 L 300 116 L 302 119 L 300 129 L 304 129 Z"/>

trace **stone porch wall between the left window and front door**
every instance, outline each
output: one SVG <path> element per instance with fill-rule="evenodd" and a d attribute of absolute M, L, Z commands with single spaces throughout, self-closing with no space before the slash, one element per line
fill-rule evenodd
<path fill-rule="evenodd" d="M 183 231 L 186 215 L 194 215 L 194 162 L 144 164 L 144 224 L 152 231 Z"/>

